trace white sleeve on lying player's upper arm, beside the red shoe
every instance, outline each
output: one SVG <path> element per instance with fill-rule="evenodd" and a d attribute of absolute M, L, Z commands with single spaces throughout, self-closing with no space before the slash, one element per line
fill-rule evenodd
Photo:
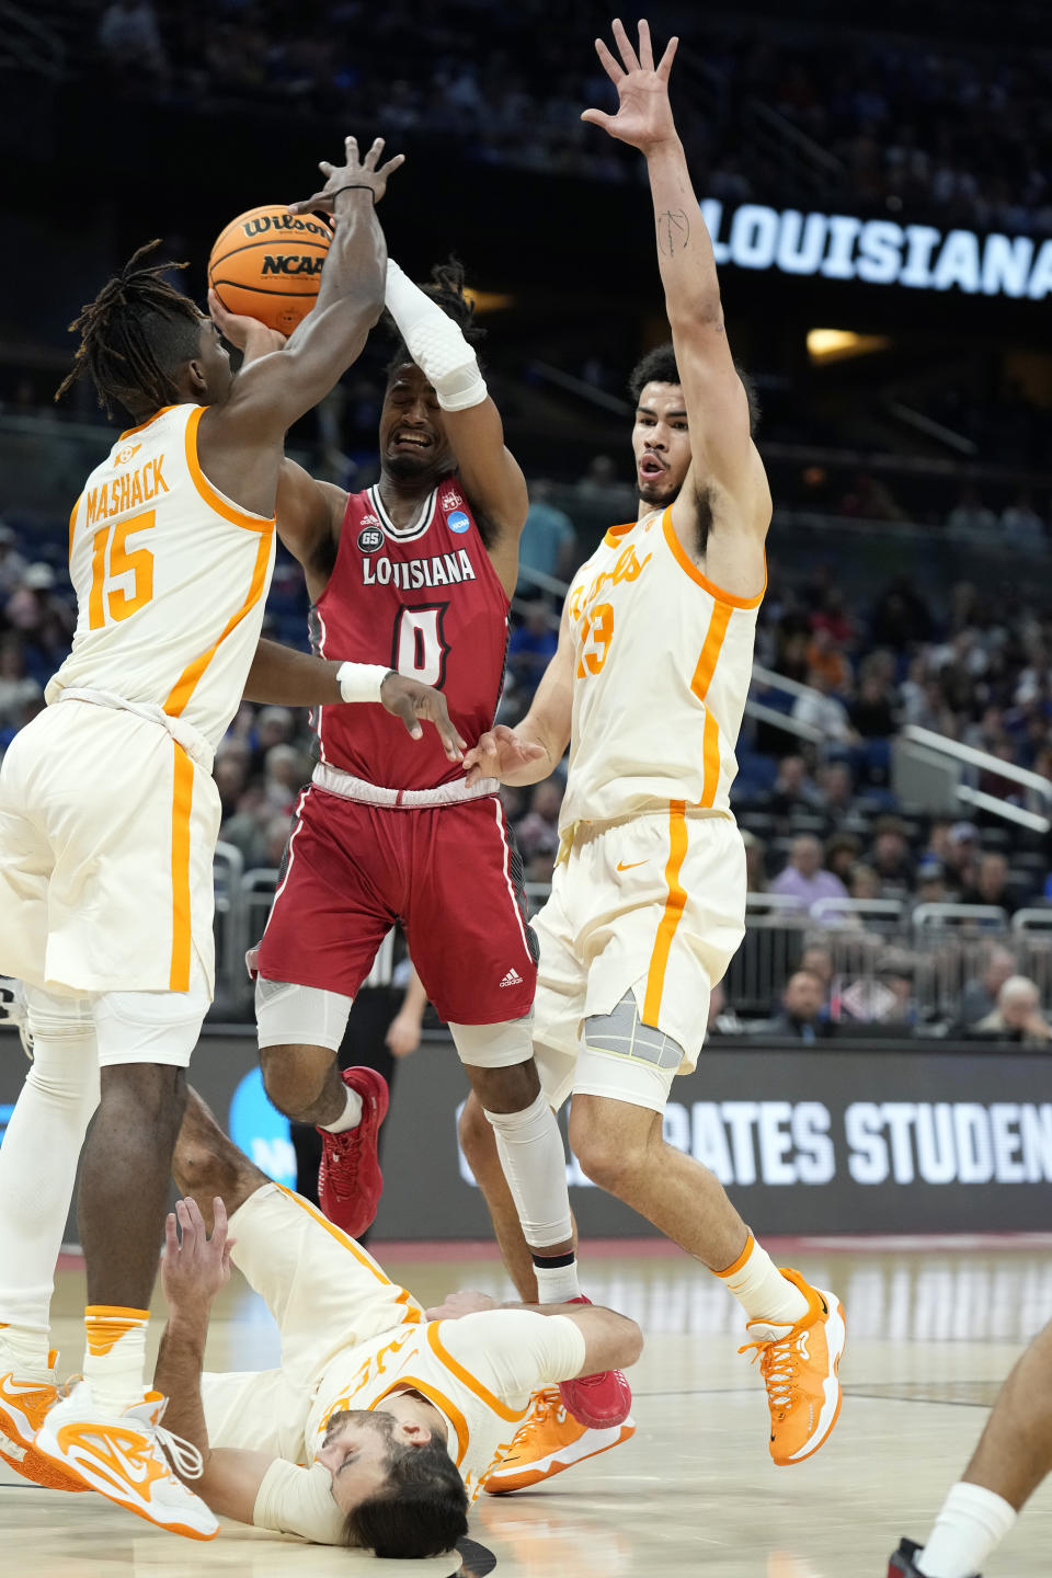
<path fill-rule="evenodd" d="M 569 1381 L 585 1362 L 580 1327 L 565 1314 L 479 1310 L 443 1321 L 442 1346 L 494 1397 L 524 1408 L 532 1392 Z"/>

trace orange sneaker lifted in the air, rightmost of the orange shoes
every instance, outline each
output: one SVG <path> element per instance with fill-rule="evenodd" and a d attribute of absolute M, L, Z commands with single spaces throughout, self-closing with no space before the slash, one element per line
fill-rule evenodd
<path fill-rule="evenodd" d="M 847 1337 L 844 1305 L 831 1292 L 804 1281 L 800 1272 L 781 1269 L 800 1288 L 808 1313 L 787 1321 L 749 1321 L 755 1341 L 738 1352 L 755 1349 L 771 1409 L 771 1458 L 778 1468 L 803 1463 L 826 1441 L 841 1412 L 841 1382 L 836 1378 Z"/>

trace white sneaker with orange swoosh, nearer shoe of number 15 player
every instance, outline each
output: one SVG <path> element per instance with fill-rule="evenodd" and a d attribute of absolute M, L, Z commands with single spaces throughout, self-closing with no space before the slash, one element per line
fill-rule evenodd
<path fill-rule="evenodd" d="M 180 1474 L 199 1479 L 200 1452 L 164 1430 L 167 1398 L 147 1392 L 120 1414 L 106 1414 L 85 1381 L 44 1415 L 33 1445 L 36 1452 L 148 1523 L 191 1540 L 215 1540 L 219 1524 L 200 1496 L 175 1477 L 164 1452 Z"/>

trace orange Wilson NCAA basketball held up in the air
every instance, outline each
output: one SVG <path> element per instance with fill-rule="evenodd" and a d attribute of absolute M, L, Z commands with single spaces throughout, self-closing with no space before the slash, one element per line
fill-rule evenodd
<path fill-rule="evenodd" d="M 243 312 L 290 335 L 317 301 L 331 227 L 284 204 L 249 208 L 219 234 L 208 284 L 227 312 Z"/>

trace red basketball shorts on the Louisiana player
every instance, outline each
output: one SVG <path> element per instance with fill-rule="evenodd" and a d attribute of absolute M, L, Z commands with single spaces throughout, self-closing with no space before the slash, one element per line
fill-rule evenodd
<path fill-rule="evenodd" d="M 311 784 L 259 974 L 355 997 L 397 920 L 438 1015 L 500 1024 L 533 1004 L 538 948 L 525 917 L 522 862 L 497 795 L 402 810 Z"/>

